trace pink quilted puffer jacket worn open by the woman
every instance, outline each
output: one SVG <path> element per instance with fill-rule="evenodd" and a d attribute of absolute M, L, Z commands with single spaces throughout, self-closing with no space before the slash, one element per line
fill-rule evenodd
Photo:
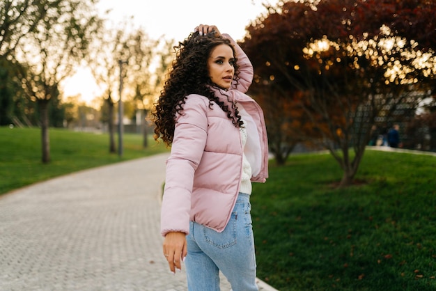
<path fill-rule="evenodd" d="M 228 35 L 223 35 L 231 39 Z M 268 176 L 267 132 L 263 111 L 244 92 L 253 78 L 246 54 L 236 49 L 240 80 L 229 91 L 217 90 L 220 100 L 238 102 L 251 116 L 247 118 L 249 139 L 245 155 L 253 182 L 265 182 Z M 226 227 L 238 197 L 242 174 L 242 141 L 235 127 L 217 104 L 209 108 L 208 98 L 187 96 L 177 116 L 171 155 L 166 161 L 166 181 L 162 200 L 161 233 L 189 233 L 189 221 L 196 221 L 218 232 Z"/>

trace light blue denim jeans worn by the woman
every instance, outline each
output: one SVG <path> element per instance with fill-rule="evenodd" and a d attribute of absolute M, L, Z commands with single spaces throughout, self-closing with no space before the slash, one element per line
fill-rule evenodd
<path fill-rule="evenodd" d="M 185 267 L 189 291 L 219 291 L 219 271 L 233 291 L 257 291 L 249 195 L 240 193 L 222 233 L 191 221 Z"/>

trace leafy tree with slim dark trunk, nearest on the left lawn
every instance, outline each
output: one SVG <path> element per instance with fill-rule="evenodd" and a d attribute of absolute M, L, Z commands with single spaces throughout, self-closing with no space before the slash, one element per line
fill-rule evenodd
<path fill-rule="evenodd" d="M 74 72 L 93 33 L 100 28 L 96 2 L 64 0 L 54 7 L 43 6 L 43 21 L 15 48 L 15 58 L 26 68 L 20 72 L 22 88 L 40 111 L 43 163 L 50 161 L 49 102 L 59 98 L 59 83 Z"/>

